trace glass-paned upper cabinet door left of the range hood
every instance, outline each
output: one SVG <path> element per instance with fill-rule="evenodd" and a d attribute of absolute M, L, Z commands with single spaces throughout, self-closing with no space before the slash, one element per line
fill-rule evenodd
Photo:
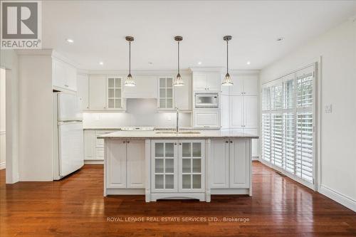
<path fill-rule="evenodd" d="M 122 78 L 108 76 L 108 108 L 110 109 L 120 109 L 122 107 L 121 80 Z"/>

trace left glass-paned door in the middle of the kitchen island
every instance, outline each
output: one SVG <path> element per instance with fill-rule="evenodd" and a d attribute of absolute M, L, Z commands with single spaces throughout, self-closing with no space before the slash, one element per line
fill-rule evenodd
<path fill-rule="evenodd" d="M 152 140 L 152 192 L 177 192 L 177 140 Z"/>

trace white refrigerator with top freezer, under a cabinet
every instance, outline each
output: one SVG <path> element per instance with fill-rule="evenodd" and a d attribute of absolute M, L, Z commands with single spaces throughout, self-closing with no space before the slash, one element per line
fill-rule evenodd
<path fill-rule="evenodd" d="M 62 179 L 84 165 L 83 116 L 79 99 L 53 93 L 53 179 Z"/>

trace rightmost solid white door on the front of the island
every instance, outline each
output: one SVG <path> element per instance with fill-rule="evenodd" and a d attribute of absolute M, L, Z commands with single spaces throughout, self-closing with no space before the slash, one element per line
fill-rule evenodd
<path fill-rule="evenodd" d="M 231 189 L 247 189 L 250 186 L 249 142 L 245 139 L 231 139 L 229 145 L 229 187 Z"/>

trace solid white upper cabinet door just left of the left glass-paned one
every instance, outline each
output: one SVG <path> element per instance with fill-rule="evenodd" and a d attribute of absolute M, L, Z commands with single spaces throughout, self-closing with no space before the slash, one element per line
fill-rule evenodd
<path fill-rule="evenodd" d="M 106 75 L 89 75 L 89 109 L 105 110 L 107 98 Z"/>

